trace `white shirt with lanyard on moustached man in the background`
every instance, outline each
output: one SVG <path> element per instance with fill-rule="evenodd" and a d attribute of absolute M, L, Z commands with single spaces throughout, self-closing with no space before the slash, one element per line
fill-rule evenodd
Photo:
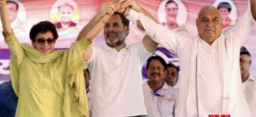
<path fill-rule="evenodd" d="M 178 101 L 178 90 L 164 83 L 163 87 L 156 91 L 160 96 L 155 96 L 148 82 L 143 84 L 146 111 L 149 117 L 173 117 L 174 107 Z M 153 110 L 151 110 L 151 108 Z M 154 111 L 152 113 L 152 111 Z"/>

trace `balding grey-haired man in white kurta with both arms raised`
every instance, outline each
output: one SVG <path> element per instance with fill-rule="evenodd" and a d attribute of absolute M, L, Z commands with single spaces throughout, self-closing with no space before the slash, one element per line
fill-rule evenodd
<path fill-rule="evenodd" d="M 248 8 L 238 24 L 222 34 L 220 13 L 205 6 L 198 15 L 196 37 L 174 33 L 133 10 L 125 14 L 133 23 L 142 23 L 147 35 L 177 55 L 181 79 L 176 116 L 251 116 L 242 94 L 239 66 L 240 47 L 255 25 L 256 16 L 252 18 Z"/>

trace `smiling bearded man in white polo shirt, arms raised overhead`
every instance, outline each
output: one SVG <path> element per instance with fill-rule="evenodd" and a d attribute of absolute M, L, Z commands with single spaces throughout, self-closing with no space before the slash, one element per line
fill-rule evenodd
<path fill-rule="evenodd" d="M 122 2 L 122 6 L 133 9 L 154 19 L 134 0 Z M 92 21 L 82 29 L 78 38 L 86 35 L 87 30 L 99 21 L 102 14 L 112 16 L 105 23 L 104 38 L 106 45 L 102 48 L 92 46 L 84 56 L 91 77 L 92 115 L 93 116 L 142 116 L 146 115 L 142 91 L 142 66 L 157 47 L 151 38 L 145 36 L 142 41 L 127 45 L 124 43 L 129 34 L 129 21 L 123 16 L 124 9 L 115 1 L 102 4 L 100 11 Z M 106 10 L 104 10 L 106 9 Z"/>

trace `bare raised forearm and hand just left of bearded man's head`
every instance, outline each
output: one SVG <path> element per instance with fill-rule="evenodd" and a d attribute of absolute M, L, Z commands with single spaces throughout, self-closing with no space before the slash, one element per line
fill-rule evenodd
<path fill-rule="evenodd" d="M 107 13 L 109 15 L 113 15 L 114 14 L 114 11 L 116 11 L 116 9 L 114 8 L 115 5 L 111 2 L 111 1 L 108 1 L 104 4 L 102 4 L 100 6 L 100 10 L 99 12 L 92 18 L 92 20 L 87 23 L 87 25 L 82 28 L 82 30 L 80 31 L 79 35 L 78 35 L 78 38 L 77 38 L 77 41 L 82 39 L 85 35 L 87 35 L 87 33 L 92 29 L 93 26 L 95 26 L 95 24 L 97 22 L 100 21 L 100 19 Z M 92 43 L 92 40 L 88 40 L 90 43 Z"/>

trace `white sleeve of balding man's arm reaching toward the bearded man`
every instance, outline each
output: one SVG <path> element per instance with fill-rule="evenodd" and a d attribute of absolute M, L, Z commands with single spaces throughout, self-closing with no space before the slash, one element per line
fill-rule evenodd
<path fill-rule="evenodd" d="M 156 43 L 159 43 L 160 45 L 163 45 L 168 50 L 171 50 L 171 52 L 173 52 L 175 55 L 178 55 L 178 48 L 180 48 L 180 46 L 183 44 L 183 40 L 187 38 L 187 36 L 174 33 L 168 28 L 165 28 L 164 26 L 152 21 L 142 13 L 137 13 L 132 9 L 127 18 L 134 24 L 136 24 L 136 21 L 139 20 L 142 23 L 145 32 L 142 30 L 139 31 L 146 33 L 146 35 L 149 35 L 152 40 L 156 41 Z"/>

